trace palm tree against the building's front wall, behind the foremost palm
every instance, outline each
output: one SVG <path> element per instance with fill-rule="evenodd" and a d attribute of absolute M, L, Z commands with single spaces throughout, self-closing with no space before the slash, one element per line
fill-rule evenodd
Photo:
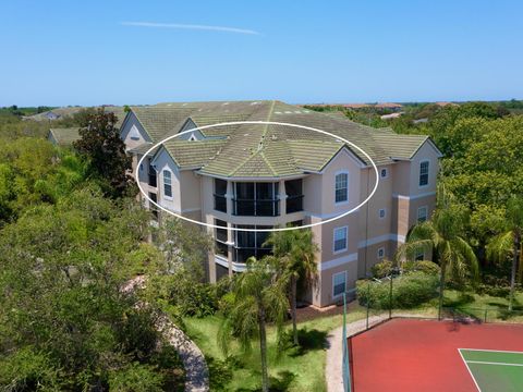
<path fill-rule="evenodd" d="M 264 243 L 266 245 L 272 246 L 272 254 L 278 259 L 277 269 L 289 281 L 292 333 L 294 344 L 297 345 L 297 282 L 303 279 L 309 285 L 316 280 L 318 268 L 315 256 L 318 246 L 313 242 L 313 232 L 305 229 L 272 232 Z"/>

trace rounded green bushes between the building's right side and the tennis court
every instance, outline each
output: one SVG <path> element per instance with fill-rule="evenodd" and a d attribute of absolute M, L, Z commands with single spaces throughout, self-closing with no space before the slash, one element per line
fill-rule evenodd
<path fill-rule="evenodd" d="M 413 271 L 394 278 L 392 282 L 392 306 L 412 308 L 437 296 L 438 277 Z M 368 290 L 370 285 L 370 290 Z M 356 294 L 361 305 L 367 303 L 375 309 L 388 309 L 390 306 L 390 281 L 361 280 L 356 282 Z"/>

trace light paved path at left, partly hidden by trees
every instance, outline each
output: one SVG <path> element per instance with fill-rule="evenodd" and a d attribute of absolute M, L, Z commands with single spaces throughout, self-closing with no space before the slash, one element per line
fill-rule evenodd
<path fill-rule="evenodd" d="M 131 292 L 137 287 L 142 289 L 145 286 L 145 283 L 146 278 L 144 275 L 136 277 L 130 280 L 122 287 L 122 291 Z M 147 304 L 144 305 L 146 306 Z M 160 317 L 157 329 L 180 355 L 180 359 L 185 368 L 185 391 L 209 391 L 209 369 L 199 347 L 181 329 L 173 324 L 166 315 Z"/>

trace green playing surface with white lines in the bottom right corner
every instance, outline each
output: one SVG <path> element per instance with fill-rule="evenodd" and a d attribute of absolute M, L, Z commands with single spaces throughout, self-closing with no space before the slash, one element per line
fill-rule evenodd
<path fill-rule="evenodd" d="M 481 392 L 523 391 L 523 352 L 459 351 Z"/>

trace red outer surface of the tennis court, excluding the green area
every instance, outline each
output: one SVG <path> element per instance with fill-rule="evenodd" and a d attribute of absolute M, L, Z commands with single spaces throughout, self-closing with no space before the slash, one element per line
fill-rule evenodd
<path fill-rule="evenodd" d="M 354 392 L 477 392 L 458 348 L 523 352 L 523 326 L 393 319 L 351 344 Z"/>

